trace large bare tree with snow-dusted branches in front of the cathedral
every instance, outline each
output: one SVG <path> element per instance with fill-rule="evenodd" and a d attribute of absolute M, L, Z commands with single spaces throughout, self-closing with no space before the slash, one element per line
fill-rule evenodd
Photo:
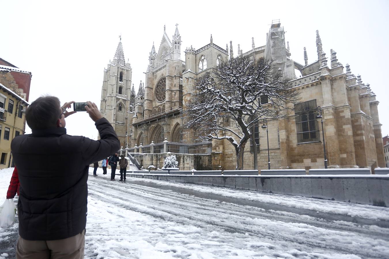
<path fill-rule="evenodd" d="M 296 103 L 298 94 L 271 62 L 237 57 L 198 78 L 186 106 L 187 128 L 198 139 L 226 139 L 235 148 L 237 170 L 243 169 L 244 148 L 261 116 L 275 118 Z M 268 103 L 261 104 L 261 97 Z M 265 97 L 265 98 L 264 98 Z M 289 105 L 289 107 L 291 107 Z"/>

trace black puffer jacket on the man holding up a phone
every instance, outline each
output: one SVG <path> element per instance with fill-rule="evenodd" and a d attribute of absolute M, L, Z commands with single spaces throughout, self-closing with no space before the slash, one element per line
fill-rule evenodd
<path fill-rule="evenodd" d="M 32 130 L 32 134 L 12 141 L 20 181 L 18 212 L 22 238 L 57 240 L 85 229 L 88 167 L 120 148 L 119 139 L 105 118 L 95 125 L 101 138 L 98 141 L 67 135 L 65 128 Z"/>

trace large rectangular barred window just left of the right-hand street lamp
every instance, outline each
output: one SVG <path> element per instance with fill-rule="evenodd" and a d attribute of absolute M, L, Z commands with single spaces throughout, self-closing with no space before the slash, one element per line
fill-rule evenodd
<path fill-rule="evenodd" d="M 297 143 L 319 142 L 319 127 L 316 120 L 316 100 L 294 105 L 296 115 Z"/>

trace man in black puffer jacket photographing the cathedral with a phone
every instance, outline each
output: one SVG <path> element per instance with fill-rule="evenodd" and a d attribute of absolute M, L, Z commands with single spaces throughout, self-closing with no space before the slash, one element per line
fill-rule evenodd
<path fill-rule="evenodd" d="M 57 97 L 39 97 L 26 110 L 32 134 L 11 143 L 20 181 L 16 258 L 84 258 L 88 168 L 120 143 L 89 101 L 85 108 L 101 139 L 67 135 L 65 118 L 75 111 L 66 108 L 72 103 L 61 107 Z"/>

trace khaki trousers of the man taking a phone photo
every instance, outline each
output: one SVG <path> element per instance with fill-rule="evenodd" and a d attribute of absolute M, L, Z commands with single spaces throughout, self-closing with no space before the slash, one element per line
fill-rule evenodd
<path fill-rule="evenodd" d="M 16 259 L 83 259 L 85 230 L 59 240 L 33 241 L 19 236 Z"/>

